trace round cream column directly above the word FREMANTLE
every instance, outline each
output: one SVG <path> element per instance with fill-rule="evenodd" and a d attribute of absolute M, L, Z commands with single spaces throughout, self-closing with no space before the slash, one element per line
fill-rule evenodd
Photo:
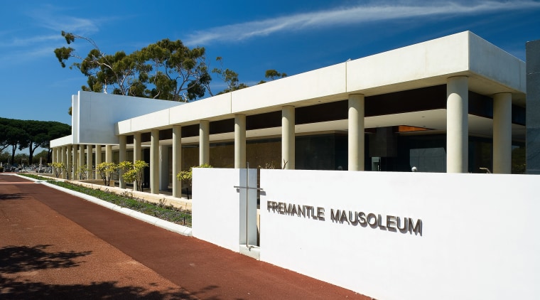
<path fill-rule="evenodd" d="M 295 168 L 295 119 L 294 107 L 281 108 L 281 168 L 294 170 Z"/>

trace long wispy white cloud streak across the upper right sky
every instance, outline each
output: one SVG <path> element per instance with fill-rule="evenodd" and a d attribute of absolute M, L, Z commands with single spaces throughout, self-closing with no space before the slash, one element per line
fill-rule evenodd
<path fill-rule="evenodd" d="M 267 18 L 261 21 L 236 23 L 197 31 L 185 38 L 187 45 L 207 45 L 214 42 L 244 41 L 283 31 L 306 31 L 350 24 L 391 21 L 414 17 L 441 17 L 490 14 L 498 11 L 540 9 L 537 1 L 400 1 L 397 4 L 377 2 L 325 11 L 313 11 Z"/>

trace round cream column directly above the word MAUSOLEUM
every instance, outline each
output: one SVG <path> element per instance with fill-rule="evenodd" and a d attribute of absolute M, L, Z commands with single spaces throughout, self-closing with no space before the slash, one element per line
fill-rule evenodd
<path fill-rule="evenodd" d="M 348 119 L 348 170 L 364 171 L 365 156 L 365 97 L 364 95 L 349 95 Z"/>

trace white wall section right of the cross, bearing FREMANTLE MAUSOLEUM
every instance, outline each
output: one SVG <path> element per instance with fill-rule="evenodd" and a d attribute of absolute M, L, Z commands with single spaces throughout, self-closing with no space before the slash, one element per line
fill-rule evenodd
<path fill-rule="evenodd" d="M 539 176 L 261 170 L 261 260 L 376 299 L 533 299 L 539 183 Z M 324 208 L 325 220 L 274 213 L 268 201 Z M 421 219 L 422 234 L 335 223 L 332 208 L 380 214 L 383 225 L 387 215 Z"/>

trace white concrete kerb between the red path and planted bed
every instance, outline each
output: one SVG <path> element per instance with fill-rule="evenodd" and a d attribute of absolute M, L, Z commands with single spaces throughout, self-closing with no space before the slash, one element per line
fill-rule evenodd
<path fill-rule="evenodd" d="M 15 175 L 15 176 L 19 176 L 21 178 L 25 178 L 25 179 L 28 179 L 28 180 L 31 180 L 31 181 L 35 181 L 36 183 L 41 183 L 41 184 L 43 184 L 45 186 L 49 186 L 50 188 L 55 188 L 58 191 L 63 191 L 64 193 L 74 195 L 75 197 L 85 199 L 85 200 L 90 201 L 92 203 L 95 203 L 97 205 L 102 205 L 105 208 L 109 208 L 111 210 L 117 211 L 117 212 L 122 213 L 124 215 L 128 215 L 131 218 L 136 218 L 137 220 L 141 220 L 141 221 L 149 223 L 151 225 L 161 227 L 161 228 L 163 228 L 165 230 L 169 230 L 169 231 L 178 233 L 180 235 L 185 235 L 185 236 L 188 236 L 188 237 L 193 236 L 192 233 L 191 233 L 191 228 L 190 227 L 186 227 L 186 226 L 183 226 L 183 225 L 178 225 L 178 224 L 175 224 L 175 223 L 172 223 L 172 222 L 168 222 L 166 220 L 161 220 L 160 218 L 156 218 L 156 217 L 153 217 L 151 215 L 146 215 L 146 214 L 140 213 L 140 212 L 138 212 L 136 210 L 131 210 L 129 208 L 122 208 L 121 206 L 118 206 L 116 204 L 113 204 L 113 203 L 110 203 L 110 202 L 107 202 L 107 201 L 92 197 L 91 195 L 86 195 L 84 193 L 80 193 L 80 192 L 77 192 L 77 191 L 72 191 L 72 190 L 70 190 L 68 188 L 55 186 L 54 184 L 48 183 L 46 181 L 37 180 L 37 179 L 34 179 L 34 178 L 29 178 L 29 177 L 20 176 L 20 175 Z"/>

